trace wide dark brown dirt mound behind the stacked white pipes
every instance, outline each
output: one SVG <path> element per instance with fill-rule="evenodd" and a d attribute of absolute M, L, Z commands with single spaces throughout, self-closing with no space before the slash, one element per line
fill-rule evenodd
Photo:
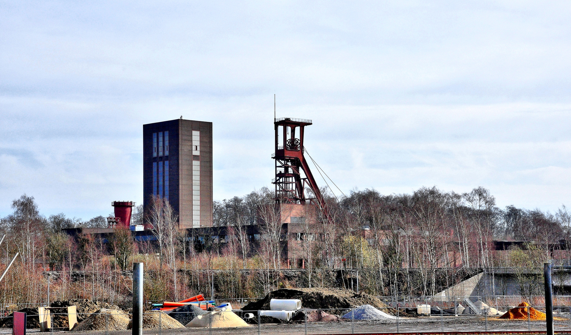
<path fill-rule="evenodd" d="M 329 314 L 344 314 L 344 309 L 361 305 L 372 305 L 376 308 L 385 308 L 379 298 L 367 293 L 355 293 L 352 290 L 332 288 L 297 288 L 279 289 L 268 293 L 258 301 L 250 302 L 242 310 L 270 309 L 270 300 L 274 299 L 299 299 L 301 308 L 325 309 Z M 338 309 L 338 310 L 336 310 Z M 394 310 L 388 313 L 395 313 Z"/>

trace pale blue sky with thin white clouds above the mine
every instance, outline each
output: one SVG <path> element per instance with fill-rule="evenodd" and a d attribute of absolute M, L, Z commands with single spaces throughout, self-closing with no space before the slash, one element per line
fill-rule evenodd
<path fill-rule="evenodd" d="M 345 194 L 481 186 L 554 212 L 571 205 L 570 10 L 0 0 L 0 216 L 23 194 L 83 220 L 141 203 L 142 125 L 181 115 L 213 123 L 215 200 L 271 187 L 274 94 L 278 118 L 313 120 L 305 147 Z"/>

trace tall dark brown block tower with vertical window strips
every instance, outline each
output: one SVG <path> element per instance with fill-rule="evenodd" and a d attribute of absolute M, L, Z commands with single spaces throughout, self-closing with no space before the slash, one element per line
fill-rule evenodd
<path fill-rule="evenodd" d="M 212 122 L 143 125 L 143 207 L 168 200 L 179 229 L 212 227 Z"/>

